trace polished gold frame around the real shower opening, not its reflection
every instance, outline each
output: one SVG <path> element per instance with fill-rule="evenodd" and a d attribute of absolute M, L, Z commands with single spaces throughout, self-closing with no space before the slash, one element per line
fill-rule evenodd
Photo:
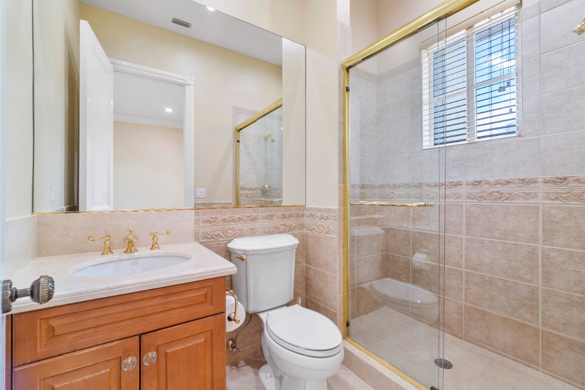
<path fill-rule="evenodd" d="M 349 141 L 350 141 L 350 122 L 349 122 L 349 79 L 350 74 L 349 71 L 351 68 L 355 67 L 356 65 L 366 61 L 367 59 L 376 56 L 376 54 L 381 53 L 382 51 L 388 49 L 388 47 L 392 46 L 395 43 L 400 42 L 403 39 L 412 36 L 422 29 L 425 29 L 432 23 L 437 22 L 438 20 L 448 18 L 448 16 L 453 15 L 456 12 L 461 11 L 464 8 L 478 2 L 479 0 L 446 0 L 436 6 L 435 8 L 431 9 L 430 11 L 422 14 L 416 19 L 411 20 L 404 26 L 394 30 L 387 36 L 377 40 L 376 42 L 370 44 L 369 46 L 364 47 L 364 49 L 358 51 L 357 53 L 353 54 L 352 56 L 346 58 L 341 64 L 343 68 L 343 321 L 347 324 L 349 321 L 349 292 L 350 292 L 350 279 L 349 279 L 349 270 L 350 270 L 350 175 L 349 175 Z M 390 363 L 388 363 L 383 358 L 378 357 L 376 354 L 372 353 L 371 351 L 367 350 L 367 348 L 363 347 L 361 344 L 357 343 L 356 341 L 350 339 L 347 334 L 347 326 L 343 328 L 343 338 L 347 340 L 350 344 L 358 348 L 359 350 L 366 353 L 368 356 L 374 358 L 374 360 L 378 361 L 385 367 L 389 368 L 391 371 L 395 372 L 395 374 L 399 375 L 401 378 L 405 379 L 406 381 L 410 382 L 412 385 L 416 386 L 421 390 L 428 390 L 425 386 L 419 383 L 416 379 L 410 377 L 407 373 L 398 370 L 398 368 L 394 367 Z"/>

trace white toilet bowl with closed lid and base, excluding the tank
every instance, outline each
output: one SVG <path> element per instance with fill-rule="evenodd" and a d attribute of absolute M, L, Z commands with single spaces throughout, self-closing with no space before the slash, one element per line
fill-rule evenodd
<path fill-rule="evenodd" d="M 341 333 L 331 320 L 302 306 L 284 306 L 258 314 L 262 350 L 260 368 L 266 390 L 325 390 L 343 360 Z"/>

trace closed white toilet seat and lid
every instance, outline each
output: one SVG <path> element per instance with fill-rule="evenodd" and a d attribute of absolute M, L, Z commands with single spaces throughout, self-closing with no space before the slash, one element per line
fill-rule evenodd
<path fill-rule="evenodd" d="M 268 313 L 266 331 L 287 350 L 313 357 L 329 357 L 343 350 L 335 324 L 324 315 L 299 305 Z"/>

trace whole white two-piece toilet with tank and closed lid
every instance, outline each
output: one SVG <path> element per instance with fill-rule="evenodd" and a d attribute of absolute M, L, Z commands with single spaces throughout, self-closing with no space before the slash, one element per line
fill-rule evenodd
<path fill-rule="evenodd" d="M 267 364 L 259 375 L 266 390 L 325 390 L 343 360 L 341 333 L 331 320 L 299 305 L 284 306 L 293 298 L 297 246 L 291 234 L 242 237 L 228 244 L 238 268 L 233 291 L 264 328 Z"/>

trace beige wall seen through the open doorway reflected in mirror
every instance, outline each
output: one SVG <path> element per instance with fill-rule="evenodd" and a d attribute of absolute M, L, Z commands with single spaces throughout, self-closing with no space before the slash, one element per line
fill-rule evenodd
<path fill-rule="evenodd" d="M 113 122 L 113 208 L 183 208 L 183 129 Z"/>

